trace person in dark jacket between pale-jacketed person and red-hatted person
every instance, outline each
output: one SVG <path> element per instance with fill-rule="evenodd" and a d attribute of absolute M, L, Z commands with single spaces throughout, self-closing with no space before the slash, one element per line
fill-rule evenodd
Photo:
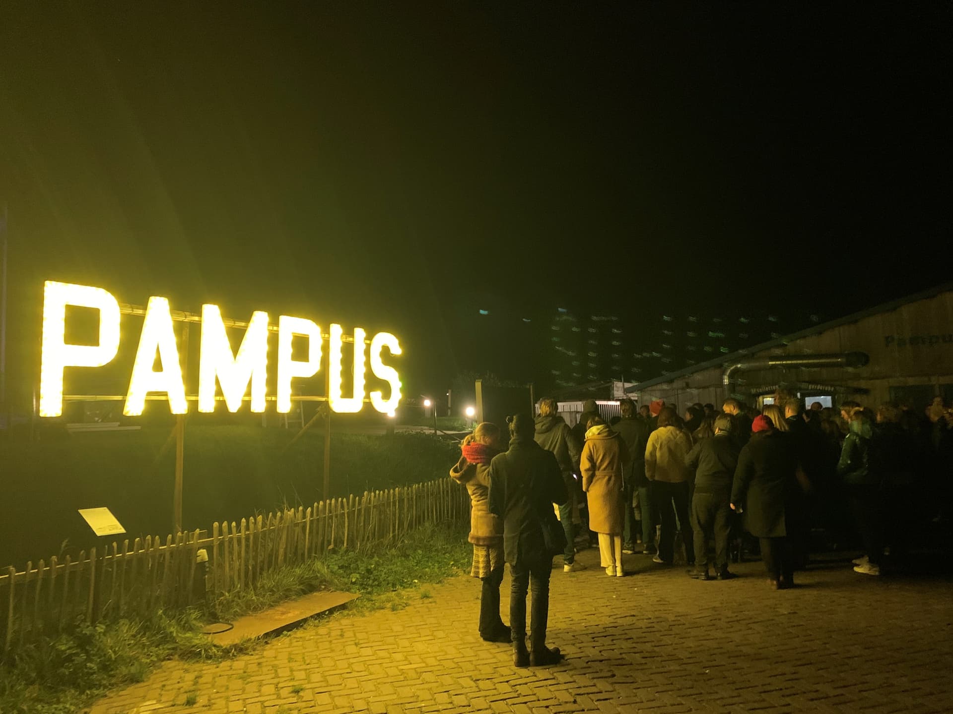
<path fill-rule="evenodd" d="M 719 414 L 715 436 L 692 447 L 687 466 L 695 471 L 695 495 L 691 522 L 695 531 L 693 578 L 709 580 L 708 544 L 715 539 L 715 572 L 719 580 L 732 577 L 728 571 L 728 533 L 731 530 L 731 486 L 738 466 L 739 447 L 731 434 L 731 417 Z"/>

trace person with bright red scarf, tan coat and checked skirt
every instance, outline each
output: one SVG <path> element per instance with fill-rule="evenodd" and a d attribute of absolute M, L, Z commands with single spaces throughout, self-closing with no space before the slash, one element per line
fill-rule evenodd
<path fill-rule="evenodd" d="M 510 642 L 510 627 L 499 617 L 499 585 L 503 582 L 503 522 L 490 512 L 490 462 L 499 453 L 499 427 L 476 426 L 463 439 L 462 455 L 450 476 L 470 494 L 470 537 L 474 562 L 470 574 L 483 584 L 479 605 L 479 635 L 487 642 Z"/>

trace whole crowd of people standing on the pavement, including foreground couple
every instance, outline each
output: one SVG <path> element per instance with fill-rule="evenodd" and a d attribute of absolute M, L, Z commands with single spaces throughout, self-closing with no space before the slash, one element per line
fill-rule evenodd
<path fill-rule="evenodd" d="M 727 399 L 679 415 L 660 400 L 637 409 L 624 399 L 607 423 L 589 400 L 570 427 L 543 399 L 536 419 L 509 420 L 508 446 L 498 426 L 477 426 L 451 476 L 473 506 L 480 636 L 511 642 L 517 666 L 558 662 L 546 645 L 553 557 L 577 572 L 578 549 L 595 543 L 610 577 L 626 574 L 623 553 L 673 565 L 680 542 L 693 578 L 726 580 L 746 546 L 760 552 L 770 587 L 785 589 L 808 565 L 812 532 L 826 547 L 862 545 L 858 573 L 901 570 L 917 527 L 946 517 L 953 409 L 940 398 L 923 415 L 857 402 L 805 409 L 782 388 L 770 402 L 759 412 Z M 499 615 L 504 564 L 509 627 Z"/>

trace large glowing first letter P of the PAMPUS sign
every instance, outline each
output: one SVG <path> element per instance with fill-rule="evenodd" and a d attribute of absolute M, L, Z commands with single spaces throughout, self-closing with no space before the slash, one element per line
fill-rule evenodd
<path fill-rule="evenodd" d="M 66 307 L 99 310 L 99 344 L 66 344 Z M 64 367 L 102 367 L 119 350 L 119 303 L 103 288 L 48 280 L 43 288 L 43 347 L 40 353 L 40 416 L 63 413 Z"/>

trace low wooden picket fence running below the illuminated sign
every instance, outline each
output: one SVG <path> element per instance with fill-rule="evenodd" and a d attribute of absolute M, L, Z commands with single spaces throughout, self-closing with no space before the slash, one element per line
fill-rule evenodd
<path fill-rule="evenodd" d="M 469 518 L 466 489 L 441 479 L 216 523 L 211 536 L 146 536 L 107 545 L 105 553 L 91 548 L 75 560 L 30 562 L 22 572 L 10 566 L 0 575 L 3 654 L 79 618 L 97 623 L 204 605 L 329 550 L 390 545 L 420 526 Z"/>

